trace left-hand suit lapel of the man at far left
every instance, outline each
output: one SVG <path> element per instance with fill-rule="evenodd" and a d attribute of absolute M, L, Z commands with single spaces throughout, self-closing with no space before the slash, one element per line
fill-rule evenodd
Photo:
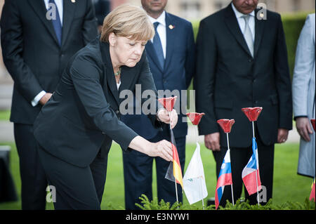
<path fill-rule="evenodd" d="M 39 19 L 44 23 L 44 25 L 48 29 L 48 32 L 51 33 L 51 36 L 53 37 L 53 39 L 55 39 L 56 44 L 58 44 L 58 39 L 55 34 L 53 23 L 51 22 L 51 20 L 46 19 L 47 10 L 46 10 L 44 1 L 43 0 L 28 0 L 28 1 L 29 1 L 29 4 L 32 6 L 34 12 L 39 16 Z"/>

